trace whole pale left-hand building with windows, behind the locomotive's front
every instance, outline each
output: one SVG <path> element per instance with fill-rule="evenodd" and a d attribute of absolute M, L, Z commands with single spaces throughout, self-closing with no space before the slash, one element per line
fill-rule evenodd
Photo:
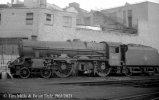
<path fill-rule="evenodd" d="M 38 40 L 44 40 L 44 37 L 45 40 L 71 38 L 75 31 L 76 14 L 54 7 L 47 6 L 46 0 L 0 5 L 1 37 L 37 37 Z"/>

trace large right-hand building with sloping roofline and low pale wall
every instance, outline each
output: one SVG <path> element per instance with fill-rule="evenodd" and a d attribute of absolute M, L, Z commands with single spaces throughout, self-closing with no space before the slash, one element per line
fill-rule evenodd
<path fill-rule="evenodd" d="M 91 11 L 89 17 L 90 25 L 100 26 L 102 31 L 77 30 L 77 37 L 80 39 L 137 43 L 159 50 L 159 4 L 157 3 L 126 3 L 121 7 Z"/>

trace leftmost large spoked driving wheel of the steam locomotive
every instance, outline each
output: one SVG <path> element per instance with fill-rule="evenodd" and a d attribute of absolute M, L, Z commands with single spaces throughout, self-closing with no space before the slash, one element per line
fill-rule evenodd
<path fill-rule="evenodd" d="M 55 74 L 58 77 L 68 77 L 72 74 L 72 65 L 66 62 L 58 62 Z"/>

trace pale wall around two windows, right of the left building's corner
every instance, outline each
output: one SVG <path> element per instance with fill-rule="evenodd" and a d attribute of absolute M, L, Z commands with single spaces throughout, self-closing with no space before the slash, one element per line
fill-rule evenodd
<path fill-rule="evenodd" d="M 53 23 L 46 24 L 45 14 L 51 13 L 53 15 Z M 76 27 L 76 14 L 62 12 L 62 11 L 51 11 L 51 10 L 41 10 L 40 11 L 40 22 L 39 22 L 39 40 L 42 41 L 58 41 L 67 40 L 74 38 L 75 27 Z M 64 26 L 64 16 L 69 16 L 71 21 L 71 26 Z"/>

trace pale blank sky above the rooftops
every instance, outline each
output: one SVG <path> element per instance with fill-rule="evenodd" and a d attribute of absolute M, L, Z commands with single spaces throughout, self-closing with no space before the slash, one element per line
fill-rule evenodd
<path fill-rule="evenodd" d="M 20 0 L 23 1 L 23 0 Z M 159 0 L 47 0 L 50 4 L 55 4 L 61 8 L 65 8 L 71 2 L 77 2 L 80 4 L 80 7 L 90 11 L 92 10 L 102 10 L 109 9 L 118 6 L 123 6 L 125 3 L 140 3 L 144 1 L 151 1 L 155 3 L 159 3 Z M 11 0 L 0 0 L 0 4 L 6 4 L 7 2 L 11 2 Z"/>

